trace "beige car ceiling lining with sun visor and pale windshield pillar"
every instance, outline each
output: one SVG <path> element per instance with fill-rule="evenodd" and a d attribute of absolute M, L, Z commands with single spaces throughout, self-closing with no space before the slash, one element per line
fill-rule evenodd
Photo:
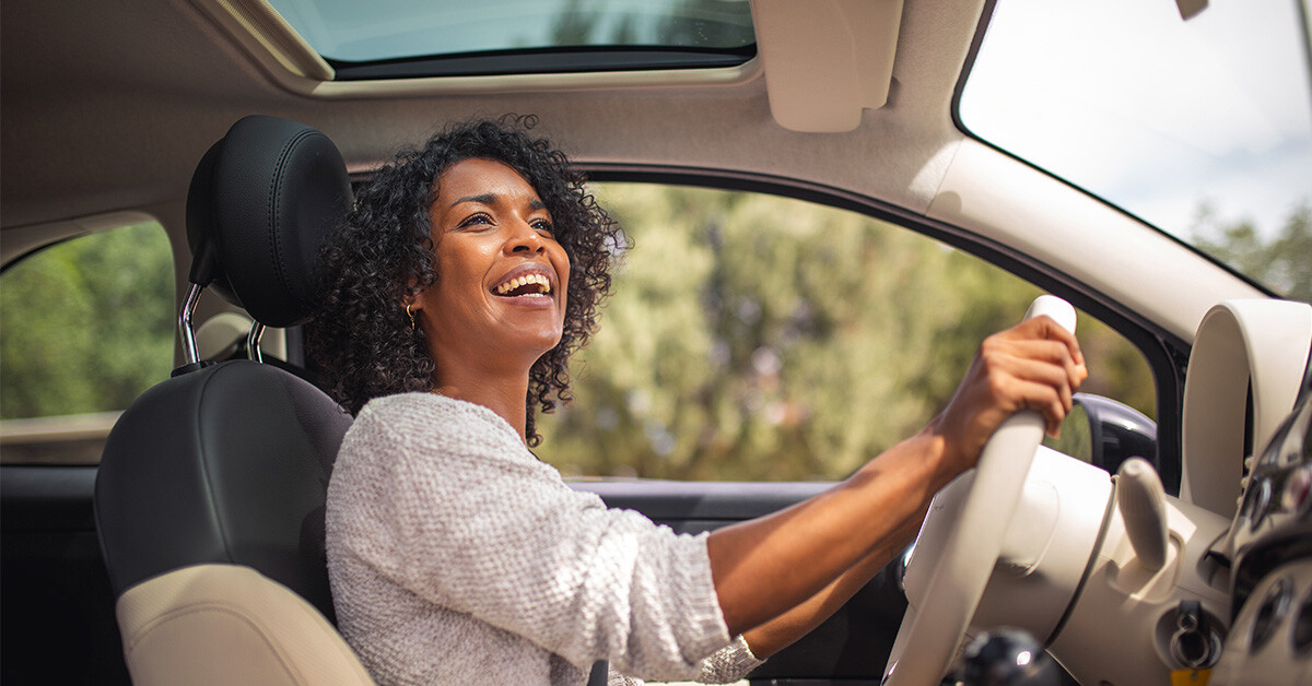
<path fill-rule="evenodd" d="M 1164 320 L 1182 338 L 1216 299 L 1260 295 L 958 129 L 953 100 L 984 1 L 849 0 L 799 10 L 758 0 L 758 54 L 737 67 L 352 83 L 316 79 L 303 46 L 260 28 L 249 9 L 227 9 L 234 5 L 262 4 L 0 5 L 5 261 L 125 211 L 160 218 L 184 254 L 177 244 L 192 169 L 247 114 L 315 126 L 349 169 L 363 172 L 446 122 L 513 111 L 537 114 L 541 131 L 593 169 L 697 171 L 851 195 L 998 243 L 1128 310 L 1160 308 L 1145 294 L 1178 290 L 1182 311 Z M 989 178 L 1009 182 L 991 192 L 980 186 Z M 1056 206 L 1026 205 L 1039 186 Z M 963 202 L 981 193 L 997 202 Z M 1064 228 L 1072 233 L 1052 235 L 1075 207 L 1077 226 Z M 1151 262 L 1134 264 L 1134 254 L 1122 256 L 1134 278 L 1118 279 L 1093 266 L 1115 254 L 1099 248 L 1106 240 L 1178 253 L 1179 269 L 1208 286 L 1181 287 L 1178 277 L 1152 274 Z"/>

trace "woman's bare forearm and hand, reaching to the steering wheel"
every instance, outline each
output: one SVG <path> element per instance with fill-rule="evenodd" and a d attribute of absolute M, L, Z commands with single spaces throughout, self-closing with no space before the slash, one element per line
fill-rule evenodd
<path fill-rule="evenodd" d="M 953 401 L 918 434 L 812 500 L 714 531 L 707 552 L 729 632 L 781 618 L 762 631 L 775 636 L 768 645 L 786 644 L 800 635 L 787 627 L 823 620 L 859 588 L 858 563 L 896 550 L 1006 417 L 1035 409 L 1054 433 L 1086 374 L 1073 336 L 1047 317 L 1025 321 L 984 341 Z"/>

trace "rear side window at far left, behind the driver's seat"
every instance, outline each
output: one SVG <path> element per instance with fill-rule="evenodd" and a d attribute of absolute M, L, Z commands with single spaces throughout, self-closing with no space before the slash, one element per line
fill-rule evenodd
<path fill-rule="evenodd" d="M 0 273 L 3 462 L 94 463 L 173 365 L 173 260 L 156 223 L 76 236 Z"/>

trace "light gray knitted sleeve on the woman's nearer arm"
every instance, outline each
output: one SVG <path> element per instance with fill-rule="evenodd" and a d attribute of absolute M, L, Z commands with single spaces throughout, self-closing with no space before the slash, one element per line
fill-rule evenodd
<path fill-rule="evenodd" d="M 489 409 L 391 396 L 346 441 L 363 470 L 345 498 L 363 529 L 352 552 L 411 593 L 647 679 L 697 678 L 729 645 L 705 535 L 575 492 Z"/>

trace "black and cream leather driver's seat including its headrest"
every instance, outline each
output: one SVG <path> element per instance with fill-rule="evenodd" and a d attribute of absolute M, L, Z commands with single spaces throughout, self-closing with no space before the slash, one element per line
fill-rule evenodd
<path fill-rule="evenodd" d="M 310 316 L 319 247 L 350 186 L 327 136 L 239 121 L 188 193 L 186 365 L 114 425 L 96 523 L 133 681 L 373 683 L 332 626 L 324 494 L 346 414 L 319 388 L 251 359 L 198 358 L 203 289 L 264 325 Z"/>

